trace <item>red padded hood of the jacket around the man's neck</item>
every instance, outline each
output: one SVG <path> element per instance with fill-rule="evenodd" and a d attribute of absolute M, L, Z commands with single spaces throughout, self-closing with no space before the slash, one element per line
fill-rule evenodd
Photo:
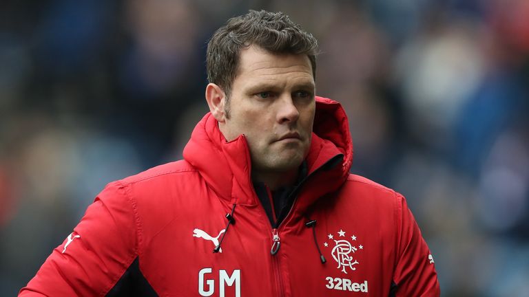
<path fill-rule="evenodd" d="M 328 192 L 337 190 L 349 175 L 353 162 L 353 142 L 349 122 L 341 104 L 316 96 L 316 111 L 311 147 L 306 161 L 309 175 L 317 173 L 304 186 L 307 197 L 299 201 L 303 208 Z M 340 164 L 324 166 L 342 155 Z M 198 169 L 207 184 L 231 203 L 256 205 L 258 199 L 251 181 L 251 159 L 246 137 L 227 142 L 217 120 L 207 113 L 196 125 L 183 151 L 184 159 Z M 323 167 L 322 167 L 323 166 Z"/>

